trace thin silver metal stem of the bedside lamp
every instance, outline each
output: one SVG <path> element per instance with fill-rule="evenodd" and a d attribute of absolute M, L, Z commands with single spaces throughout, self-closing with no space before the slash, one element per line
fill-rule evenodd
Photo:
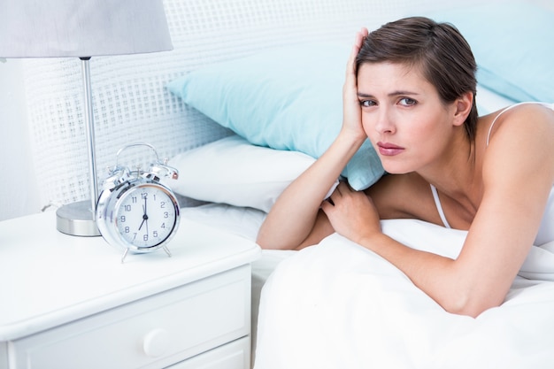
<path fill-rule="evenodd" d="M 81 58 L 82 81 L 85 92 L 85 129 L 88 149 L 88 180 L 90 181 L 90 209 L 96 214 L 98 183 L 96 179 L 96 142 L 94 113 L 92 111 L 92 89 L 90 88 L 90 57 Z"/>

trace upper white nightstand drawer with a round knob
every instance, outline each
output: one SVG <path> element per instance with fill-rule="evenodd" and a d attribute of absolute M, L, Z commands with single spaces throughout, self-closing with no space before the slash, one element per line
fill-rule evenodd
<path fill-rule="evenodd" d="M 244 265 L 17 340 L 10 355 L 18 368 L 160 368 L 248 334 Z"/>

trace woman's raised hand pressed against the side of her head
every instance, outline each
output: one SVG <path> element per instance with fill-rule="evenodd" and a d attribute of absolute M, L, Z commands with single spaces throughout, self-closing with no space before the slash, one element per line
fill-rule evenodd
<path fill-rule="evenodd" d="M 357 34 L 350 51 L 350 58 L 346 65 L 346 76 L 342 87 L 342 135 L 350 135 L 354 141 L 364 141 L 366 138 L 362 127 L 362 114 L 358 100 L 358 81 L 356 71 L 356 57 L 367 36 L 368 31 L 362 28 Z"/>

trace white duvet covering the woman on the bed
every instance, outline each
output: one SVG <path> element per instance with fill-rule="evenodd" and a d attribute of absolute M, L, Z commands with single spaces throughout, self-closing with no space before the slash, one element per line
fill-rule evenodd
<path fill-rule="evenodd" d="M 466 237 L 416 220 L 382 227 L 451 258 Z M 502 306 L 472 319 L 443 311 L 395 266 L 330 235 L 265 283 L 255 368 L 554 368 L 551 243 L 533 248 L 520 272 L 527 279 L 514 281 Z"/>

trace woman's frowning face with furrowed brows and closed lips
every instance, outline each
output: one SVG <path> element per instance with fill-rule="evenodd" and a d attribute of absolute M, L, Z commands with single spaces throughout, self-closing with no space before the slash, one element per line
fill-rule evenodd
<path fill-rule="evenodd" d="M 418 68 L 360 65 L 358 99 L 365 134 L 387 172 L 419 171 L 441 159 L 449 147 L 455 104 L 445 106 Z"/>

